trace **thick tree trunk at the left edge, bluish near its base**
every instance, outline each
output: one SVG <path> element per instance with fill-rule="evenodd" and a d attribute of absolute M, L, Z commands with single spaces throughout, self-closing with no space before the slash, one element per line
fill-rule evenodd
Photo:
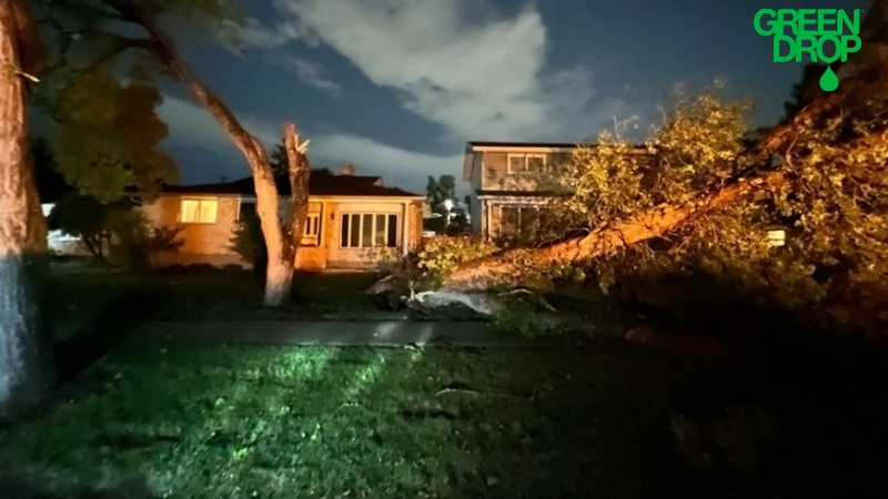
<path fill-rule="evenodd" d="M 51 386 L 40 295 L 47 225 L 28 147 L 26 78 L 37 47 L 23 0 L 0 2 L 0 417 Z"/>

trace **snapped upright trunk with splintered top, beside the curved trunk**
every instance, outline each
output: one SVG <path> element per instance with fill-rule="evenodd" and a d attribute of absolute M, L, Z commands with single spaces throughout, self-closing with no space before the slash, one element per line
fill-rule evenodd
<path fill-rule="evenodd" d="M 284 256 L 295 265 L 299 246 L 302 242 L 302 234 L 305 233 L 305 222 L 309 216 L 309 175 L 311 174 L 311 166 L 309 159 L 305 157 L 309 141 L 300 143 L 296 125 L 287 123 L 284 126 L 284 146 L 290 167 L 290 192 L 292 193 L 290 198 L 290 224 L 286 228 L 286 242 L 289 244 L 285 246 Z"/>

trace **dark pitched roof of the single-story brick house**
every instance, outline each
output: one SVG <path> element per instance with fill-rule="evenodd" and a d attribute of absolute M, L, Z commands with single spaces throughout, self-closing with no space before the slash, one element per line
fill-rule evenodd
<path fill-rule="evenodd" d="M 278 193 L 290 195 L 290 182 L 279 180 Z M 167 194 L 232 194 L 255 195 L 253 177 L 232 182 L 200 185 L 167 185 Z M 367 196 L 367 197 L 423 197 L 398 187 L 386 187 L 379 176 L 312 174 L 309 176 L 309 194 L 314 196 Z"/>

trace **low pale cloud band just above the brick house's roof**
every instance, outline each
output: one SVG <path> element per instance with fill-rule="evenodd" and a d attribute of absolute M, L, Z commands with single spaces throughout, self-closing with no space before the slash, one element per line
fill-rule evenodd
<path fill-rule="evenodd" d="M 212 182 L 221 175 L 234 179 L 249 174 L 241 152 L 203 108 L 165 95 L 158 113 L 170 128 L 164 145 L 174 152 L 174 156 L 185 161 L 203 159 L 201 165 L 180 164 L 189 173 L 188 182 Z M 269 147 L 280 141 L 282 123 L 268 123 L 252 116 L 242 116 L 241 123 Z M 422 192 L 427 175 L 453 174 L 458 177 L 462 167 L 461 155 L 436 156 L 350 134 L 321 134 L 309 139 L 309 157 L 313 164 L 336 166 L 351 162 L 357 174 L 381 175 L 387 185 L 414 192 Z M 194 167 L 203 171 L 195 174 Z"/>

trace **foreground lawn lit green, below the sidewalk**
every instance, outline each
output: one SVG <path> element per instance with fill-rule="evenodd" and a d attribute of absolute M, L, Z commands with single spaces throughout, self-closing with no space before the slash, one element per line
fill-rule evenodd
<path fill-rule="evenodd" d="M 680 371 L 626 350 L 137 342 L 1 431 L 0 460 L 60 497 L 653 497 L 695 483 L 662 369 Z"/>

